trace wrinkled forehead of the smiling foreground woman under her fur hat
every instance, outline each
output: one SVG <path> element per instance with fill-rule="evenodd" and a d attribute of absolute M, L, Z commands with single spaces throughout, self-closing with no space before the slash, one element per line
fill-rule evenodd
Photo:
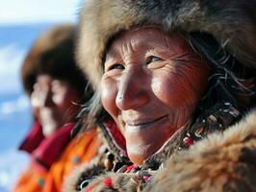
<path fill-rule="evenodd" d="M 177 33 L 166 33 L 158 27 L 148 26 L 125 31 L 111 42 L 107 57 L 112 57 L 119 52 L 134 49 L 166 49 L 166 51 L 184 51 L 190 47 L 184 36 Z"/>

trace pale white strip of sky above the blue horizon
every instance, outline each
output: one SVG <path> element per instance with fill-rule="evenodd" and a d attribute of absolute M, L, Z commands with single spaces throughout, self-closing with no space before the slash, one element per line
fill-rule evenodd
<path fill-rule="evenodd" d="M 0 0 L 0 25 L 76 21 L 80 0 Z"/>

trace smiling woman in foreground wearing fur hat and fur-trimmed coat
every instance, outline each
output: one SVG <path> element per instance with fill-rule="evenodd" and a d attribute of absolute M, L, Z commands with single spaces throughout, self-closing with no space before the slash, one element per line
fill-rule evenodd
<path fill-rule="evenodd" d="M 78 61 L 96 91 L 87 121 L 113 119 L 101 128 L 117 171 L 86 191 L 256 190 L 255 8 L 86 2 Z"/>

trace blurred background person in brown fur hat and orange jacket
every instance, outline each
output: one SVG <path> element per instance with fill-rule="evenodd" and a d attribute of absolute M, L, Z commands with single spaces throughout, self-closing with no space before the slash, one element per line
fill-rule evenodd
<path fill-rule="evenodd" d="M 22 65 L 34 125 L 19 147 L 30 154 L 31 162 L 14 185 L 15 192 L 61 191 L 64 177 L 97 155 L 100 140 L 95 129 L 72 140 L 70 136 L 81 104 L 92 94 L 74 60 L 75 34 L 70 24 L 46 31 Z"/>

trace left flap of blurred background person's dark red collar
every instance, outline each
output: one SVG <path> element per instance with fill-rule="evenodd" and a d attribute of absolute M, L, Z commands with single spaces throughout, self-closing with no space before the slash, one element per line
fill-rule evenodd
<path fill-rule="evenodd" d="M 26 138 L 22 141 L 18 150 L 32 154 L 34 150 L 38 148 L 40 142 L 44 139 L 41 126 L 38 121 L 35 121 L 30 132 L 27 134 Z"/>

